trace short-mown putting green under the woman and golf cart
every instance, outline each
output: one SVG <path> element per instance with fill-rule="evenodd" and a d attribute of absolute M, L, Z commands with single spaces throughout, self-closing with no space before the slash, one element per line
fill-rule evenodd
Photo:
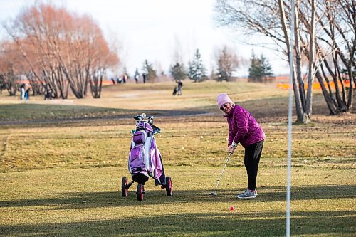
<path fill-rule="evenodd" d="M 174 196 L 149 181 L 144 201 L 136 200 L 135 185 L 127 198 L 120 196 L 120 179 L 128 175 L 124 167 L 0 174 L 0 231 L 6 236 L 283 236 L 286 169 L 261 168 L 258 198 L 241 201 L 235 195 L 245 188 L 242 167 L 228 167 L 218 196 L 207 196 L 220 168 L 167 166 Z M 293 170 L 293 236 L 355 234 L 352 175 Z"/>

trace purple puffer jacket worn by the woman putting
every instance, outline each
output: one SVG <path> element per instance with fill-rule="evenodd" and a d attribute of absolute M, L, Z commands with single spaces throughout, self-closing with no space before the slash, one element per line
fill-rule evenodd
<path fill-rule="evenodd" d="M 260 142 L 266 138 L 262 127 L 255 118 L 243 107 L 235 105 L 231 107 L 228 115 L 224 115 L 229 123 L 229 145 L 234 140 L 243 147 Z"/>

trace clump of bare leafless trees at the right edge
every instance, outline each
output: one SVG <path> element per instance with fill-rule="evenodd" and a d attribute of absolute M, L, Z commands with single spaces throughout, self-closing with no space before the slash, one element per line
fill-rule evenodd
<path fill-rule="evenodd" d="M 283 51 L 288 56 L 290 9 L 288 0 L 218 0 L 216 21 L 221 26 L 241 27 L 247 33 L 258 33 L 271 38 L 278 46 L 277 50 Z M 355 68 L 353 60 L 355 29 L 355 1 L 295 1 L 295 45 L 293 46 L 295 64 L 292 75 L 297 122 L 308 122 L 312 116 L 314 77 L 318 79 L 322 88 L 330 114 L 350 110 L 352 82 L 348 96 L 343 96 L 345 93 L 342 93 L 344 86 L 340 76 L 340 62 L 347 68 L 349 80 L 355 80 L 352 75 L 352 67 Z M 332 60 L 333 66 L 330 66 L 327 58 L 333 54 L 335 55 Z M 302 77 L 303 57 L 309 61 L 306 92 Z M 324 68 L 328 68 L 328 73 L 325 73 Z M 328 74 L 335 78 L 333 79 L 335 94 L 328 80 Z M 342 101 L 343 98 L 345 101 Z"/>

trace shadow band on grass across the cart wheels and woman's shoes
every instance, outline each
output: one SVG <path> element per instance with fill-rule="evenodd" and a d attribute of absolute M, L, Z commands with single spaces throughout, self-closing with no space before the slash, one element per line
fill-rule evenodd
<path fill-rule="evenodd" d="M 158 190 L 157 190 L 158 189 Z M 172 197 L 166 196 L 165 189 L 146 189 L 144 200 L 137 201 L 135 184 L 129 189 L 127 197 L 121 196 L 121 191 L 108 192 L 78 192 L 63 193 L 63 197 L 53 199 L 20 199 L 0 201 L 0 207 L 48 206 L 48 209 L 85 209 L 97 207 L 137 206 L 139 204 L 157 205 L 172 203 L 216 203 L 231 202 L 235 193 L 231 190 L 219 189 L 217 196 L 209 196 L 213 190 L 174 191 Z M 356 185 L 327 186 L 293 186 L 291 199 L 355 199 Z M 256 199 L 240 200 L 251 202 L 273 202 L 286 200 L 285 186 L 268 186 L 258 189 Z"/>

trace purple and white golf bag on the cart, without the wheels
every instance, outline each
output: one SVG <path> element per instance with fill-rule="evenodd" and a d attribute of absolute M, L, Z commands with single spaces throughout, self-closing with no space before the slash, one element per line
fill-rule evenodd
<path fill-rule="evenodd" d="M 160 131 L 150 122 L 139 121 L 136 130 L 132 131 L 128 168 L 132 180 L 145 184 L 152 177 L 156 185 L 165 184 L 165 175 L 161 154 L 159 153 L 154 135 Z"/>

